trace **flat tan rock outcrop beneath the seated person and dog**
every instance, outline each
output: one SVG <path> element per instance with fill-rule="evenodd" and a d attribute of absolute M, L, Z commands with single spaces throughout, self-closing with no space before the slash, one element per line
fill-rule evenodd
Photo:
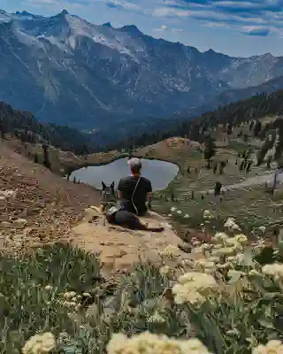
<path fill-rule="evenodd" d="M 88 208 L 85 219 L 73 227 L 72 244 L 88 252 L 99 253 L 106 273 L 130 270 L 139 260 L 155 263 L 164 261 L 167 266 L 176 266 L 181 260 L 190 258 L 185 247 L 180 250 L 179 236 L 163 217 L 150 212 L 142 221 L 153 227 L 163 226 L 164 231 L 130 230 L 107 222 L 104 226 L 103 215 Z"/>

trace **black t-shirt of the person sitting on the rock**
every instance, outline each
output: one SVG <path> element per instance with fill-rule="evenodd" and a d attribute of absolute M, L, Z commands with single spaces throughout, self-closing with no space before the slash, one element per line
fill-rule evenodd
<path fill-rule="evenodd" d="M 135 185 L 137 181 L 139 181 L 139 178 L 139 176 L 128 176 L 122 178 L 119 181 L 118 190 L 121 193 L 120 204 L 123 205 L 128 212 L 134 212 L 136 214 L 136 210 L 134 208 L 135 205 L 138 210 L 138 214 L 142 215 L 147 211 L 145 203 L 147 200 L 147 194 L 152 192 L 152 187 L 151 182 L 147 178 L 142 177 L 134 192 Z M 132 203 L 133 192 L 134 205 Z"/>

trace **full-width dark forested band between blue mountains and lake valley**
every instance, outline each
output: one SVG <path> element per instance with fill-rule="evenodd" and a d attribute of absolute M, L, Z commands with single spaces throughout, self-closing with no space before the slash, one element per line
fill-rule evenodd
<path fill-rule="evenodd" d="M 85 134 L 73 127 L 42 124 L 34 119 L 31 113 L 16 111 L 9 104 L 0 103 L 0 132 L 2 135 L 5 133 L 16 135 L 24 142 L 49 143 L 59 149 L 83 155 L 102 150 L 131 150 L 172 136 L 186 135 L 191 140 L 203 142 L 205 135 L 218 124 L 224 124 L 229 130 L 229 127 L 237 126 L 243 121 L 256 120 L 267 115 L 283 115 L 283 89 L 218 107 L 217 110 L 206 112 L 198 118 L 182 116 L 179 119 L 147 120 L 141 123 L 141 129 L 138 129 L 138 126 L 135 129 L 139 133 L 127 134 L 126 128 L 123 128 L 124 134 L 119 142 L 115 129 L 108 134 L 105 132 Z M 283 119 L 277 119 L 268 126 L 272 127 L 283 128 Z"/>

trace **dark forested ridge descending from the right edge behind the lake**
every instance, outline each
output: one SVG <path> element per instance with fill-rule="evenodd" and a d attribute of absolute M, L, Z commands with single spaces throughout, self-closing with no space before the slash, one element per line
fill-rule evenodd
<path fill-rule="evenodd" d="M 223 124 L 229 129 L 229 127 L 240 125 L 241 122 L 260 119 L 268 115 L 283 115 L 283 89 L 218 107 L 217 110 L 206 112 L 198 118 L 175 119 L 174 125 L 172 120 L 165 120 L 163 128 L 155 129 L 157 127 L 152 126 L 147 132 L 142 132 L 141 135 L 130 135 L 126 140 L 106 146 L 105 150 L 147 146 L 172 136 L 185 137 L 186 135 L 191 140 L 203 142 L 205 135 L 219 124 Z M 272 128 L 273 126 L 283 127 L 283 119 L 277 119 L 268 127 Z"/>

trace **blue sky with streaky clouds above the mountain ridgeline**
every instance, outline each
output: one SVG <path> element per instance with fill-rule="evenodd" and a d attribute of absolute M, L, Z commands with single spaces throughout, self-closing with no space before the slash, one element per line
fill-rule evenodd
<path fill-rule="evenodd" d="M 283 0 L 0 0 L 0 8 L 46 16 L 66 9 L 97 25 L 134 24 L 202 51 L 283 56 Z"/>

